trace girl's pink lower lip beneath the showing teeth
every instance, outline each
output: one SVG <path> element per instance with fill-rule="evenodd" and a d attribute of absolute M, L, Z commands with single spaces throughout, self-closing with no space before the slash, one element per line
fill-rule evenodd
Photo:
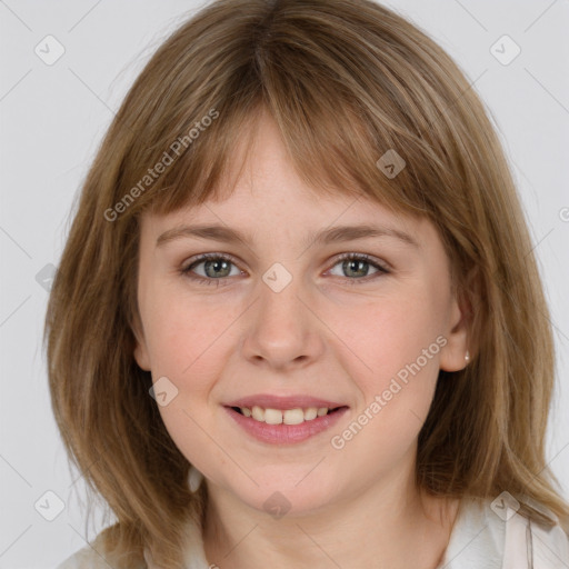
<path fill-rule="evenodd" d="M 250 417 L 244 417 L 231 407 L 226 407 L 224 409 L 251 437 L 261 442 L 270 442 L 272 445 L 302 442 L 332 427 L 348 411 L 348 407 L 341 407 L 332 413 L 317 417 L 311 421 L 305 421 L 300 425 L 268 425 L 256 421 Z"/>

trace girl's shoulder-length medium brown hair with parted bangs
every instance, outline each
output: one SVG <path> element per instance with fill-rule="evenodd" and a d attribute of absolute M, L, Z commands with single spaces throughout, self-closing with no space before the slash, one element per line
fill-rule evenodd
<path fill-rule="evenodd" d="M 541 505 L 569 527 L 545 456 L 548 307 L 475 89 L 425 32 L 375 2 L 220 0 L 159 48 L 126 97 L 82 187 L 49 300 L 53 412 L 73 463 L 117 517 L 109 550 L 128 567 L 146 545 L 163 569 L 179 567 L 183 520 L 207 503 L 206 485 L 189 492 L 189 463 L 133 358 L 140 217 L 223 198 L 234 149 L 261 109 L 315 191 L 426 217 L 445 243 L 470 307 L 472 358 L 439 373 L 417 483 L 447 497 L 506 490 L 521 513 L 547 522 Z M 395 178 L 377 164 L 390 149 L 406 161 Z"/>

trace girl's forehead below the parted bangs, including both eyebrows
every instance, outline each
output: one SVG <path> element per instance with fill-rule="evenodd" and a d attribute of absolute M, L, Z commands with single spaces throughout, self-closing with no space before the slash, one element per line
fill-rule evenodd
<path fill-rule="evenodd" d="M 152 247 L 178 237 L 241 243 L 288 241 L 308 247 L 362 237 L 395 237 L 420 248 L 438 239 L 426 217 L 396 211 L 356 187 L 313 187 L 297 173 L 276 121 L 257 117 L 232 153 L 220 192 L 167 214 L 142 216 Z"/>

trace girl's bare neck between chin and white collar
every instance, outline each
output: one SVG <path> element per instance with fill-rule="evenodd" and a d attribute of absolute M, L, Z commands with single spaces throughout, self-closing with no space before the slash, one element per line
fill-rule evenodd
<path fill-rule="evenodd" d="M 412 480 L 396 478 L 317 511 L 278 519 L 208 485 L 206 557 L 223 569 L 436 569 L 450 539 L 458 500 L 430 497 Z"/>

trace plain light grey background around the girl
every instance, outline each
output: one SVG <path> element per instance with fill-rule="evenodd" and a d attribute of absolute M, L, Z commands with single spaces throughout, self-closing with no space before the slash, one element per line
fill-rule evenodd
<path fill-rule="evenodd" d="M 548 457 L 568 497 L 569 2 L 385 3 L 458 61 L 490 109 L 512 164 L 552 310 L 559 383 Z M 79 187 L 128 87 L 162 39 L 200 6 L 0 1 L 0 569 L 54 567 L 103 527 L 96 519 L 86 533 L 84 486 L 68 469 L 51 415 L 41 348 L 44 267 L 58 264 Z M 57 53 L 48 34 L 64 48 L 53 64 L 34 52 L 39 46 L 43 58 Z M 509 64 L 490 51 L 503 34 L 521 49 Z M 513 53 L 508 41 L 493 48 L 502 61 Z M 58 501 L 47 491 L 63 502 L 53 521 L 39 513 L 57 513 Z"/>

